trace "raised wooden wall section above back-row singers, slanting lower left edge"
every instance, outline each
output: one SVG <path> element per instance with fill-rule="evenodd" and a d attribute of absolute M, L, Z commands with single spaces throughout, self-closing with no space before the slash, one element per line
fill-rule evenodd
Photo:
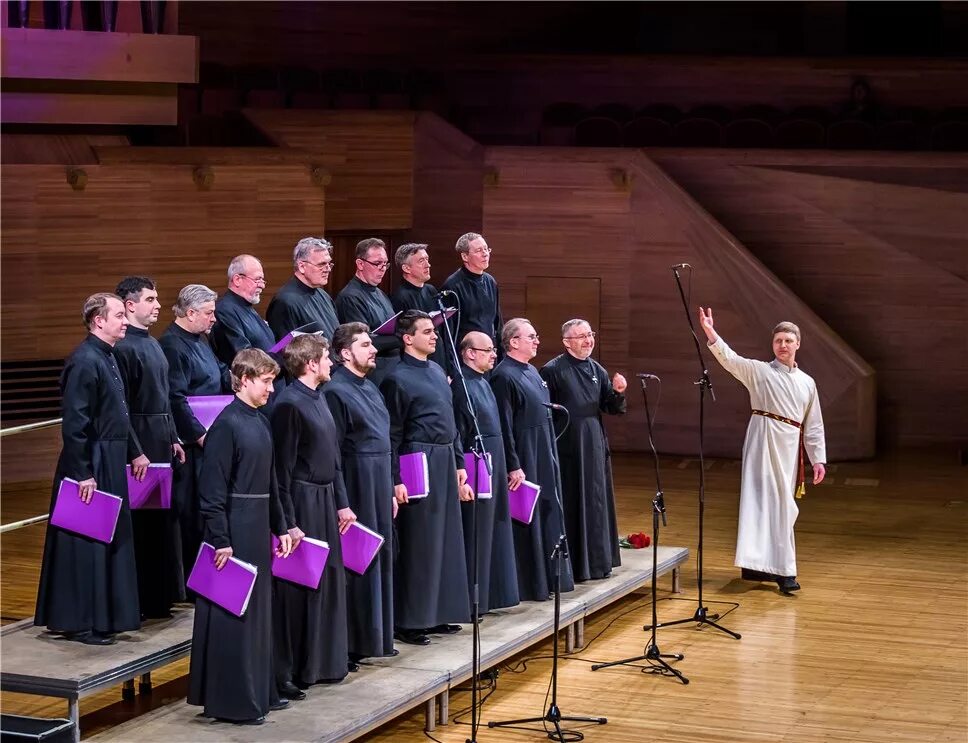
<path fill-rule="evenodd" d="M 277 144 L 304 150 L 332 173 L 329 229 L 410 228 L 413 113 L 251 109 L 245 114 Z"/>

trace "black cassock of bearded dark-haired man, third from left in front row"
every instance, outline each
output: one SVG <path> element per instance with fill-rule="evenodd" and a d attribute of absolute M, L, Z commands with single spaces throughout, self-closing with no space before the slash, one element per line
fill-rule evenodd
<path fill-rule="evenodd" d="M 390 414 L 380 391 L 366 377 L 342 366 L 323 386 L 336 425 L 343 482 L 360 524 L 386 540 L 364 575 L 346 571 L 349 651 L 393 653 L 393 481 L 390 475 Z"/>

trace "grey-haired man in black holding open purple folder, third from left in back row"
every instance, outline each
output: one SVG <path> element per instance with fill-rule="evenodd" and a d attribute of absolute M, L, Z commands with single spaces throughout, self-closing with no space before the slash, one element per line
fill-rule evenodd
<path fill-rule="evenodd" d="M 175 321 L 158 344 L 168 361 L 168 396 L 175 432 L 185 450 L 185 463 L 175 465 L 172 507 L 181 532 L 182 565 L 191 570 L 202 543 L 202 518 L 198 510 L 198 477 L 206 429 L 192 412 L 189 397 L 221 395 L 231 389 L 228 368 L 208 345 L 208 333 L 215 324 L 215 298 L 203 284 L 189 284 L 178 292 L 172 306 Z"/>

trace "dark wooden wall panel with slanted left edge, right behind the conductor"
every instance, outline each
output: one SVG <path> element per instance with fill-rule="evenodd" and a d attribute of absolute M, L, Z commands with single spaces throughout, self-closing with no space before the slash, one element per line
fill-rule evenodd
<path fill-rule="evenodd" d="M 883 441 L 965 440 L 968 157 L 654 157 L 877 370 Z"/>

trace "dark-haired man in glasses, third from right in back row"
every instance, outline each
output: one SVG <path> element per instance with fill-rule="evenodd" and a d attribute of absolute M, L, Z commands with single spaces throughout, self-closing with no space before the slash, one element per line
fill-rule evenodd
<path fill-rule="evenodd" d="M 387 245 L 376 237 L 356 245 L 356 273 L 336 296 L 336 315 L 340 323 L 361 322 L 372 332 L 394 315 L 389 297 L 380 290 L 387 272 Z M 377 387 L 400 360 L 400 341 L 393 335 L 374 335 L 376 369 L 370 381 Z"/>

